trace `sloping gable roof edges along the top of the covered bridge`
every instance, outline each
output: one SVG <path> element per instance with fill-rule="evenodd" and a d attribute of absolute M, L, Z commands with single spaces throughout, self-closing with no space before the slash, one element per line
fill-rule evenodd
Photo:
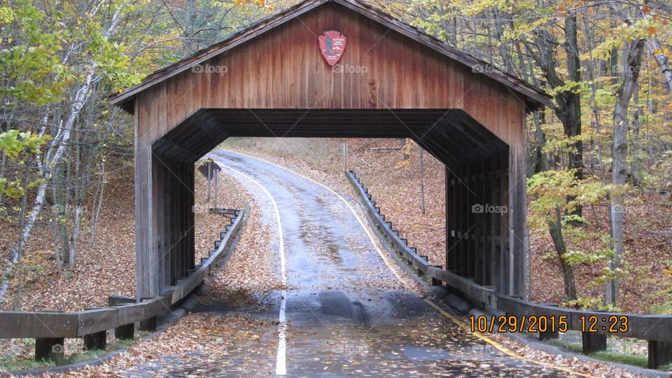
<path fill-rule="evenodd" d="M 493 80 L 496 80 L 498 83 L 505 85 L 506 87 L 510 88 L 510 90 L 524 97 L 526 99 L 526 103 L 528 106 L 530 106 L 531 109 L 538 109 L 542 106 L 554 106 L 551 97 L 545 92 L 538 90 L 536 87 L 525 83 L 523 80 L 515 76 L 504 73 L 503 71 L 489 69 L 491 65 L 484 60 L 477 59 L 476 57 L 472 57 L 466 52 L 451 47 L 439 39 L 425 34 L 422 31 L 419 31 L 418 29 L 406 24 L 405 22 L 397 20 L 392 15 L 389 15 L 388 13 L 385 13 L 359 0 L 302 1 L 301 3 L 287 8 L 286 10 L 283 10 L 276 15 L 272 15 L 269 18 L 255 22 L 250 27 L 239 31 L 237 34 L 234 34 L 224 41 L 210 45 L 209 47 L 196 52 L 190 57 L 154 71 L 153 73 L 146 76 L 146 78 L 144 78 L 141 83 L 129 87 L 123 92 L 113 95 L 111 97 L 112 104 L 120 106 L 126 111 L 133 113 L 134 102 L 132 100 L 137 94 L 146 90 L 148 87 L 160 83 L 163 80 L 167 80 L 168 78 L 186 71 L 191 67 L 196 66 L 197 64 L 201 64 L 202 62 L 215 57 L 216 55 L 220 55 L 223 52 L 231 50 L 232 48 L 235 48 L 236 46 L 241 45 L 242 43 L 245 43 L 246 41 L 255 38 L 256 36 L 273 29 L 274 27 L 282 25 L 289 20 L 293 20 L 294 18 L 297 18 L 298 16 L 313 10 L 314 8 L 318 8 L 324 3 L 330 2 L 338 3 L 346 8 L 349 8 L 350 10 L 355 11 L 356 13 L 359 13 L 360 15 L 364 15 L 371 20 L 379 22 L 381 25 L 397 31 L 398 33 L 407 36 L 416 42 L 422 43 L 428 48 L 436 50 L 437 52 L 440 52 L 443 55 L 454 59 L 456 62 L 464 64 L 465 66 L 468 66 L 472 69 L 473 67 L 477 66 L 481 67 L 482 70 L 480 70 L 480 73 Z"/>

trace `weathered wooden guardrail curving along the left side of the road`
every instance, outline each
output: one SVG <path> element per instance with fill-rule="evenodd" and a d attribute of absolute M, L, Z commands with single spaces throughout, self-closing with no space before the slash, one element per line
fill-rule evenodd
<path fill-rule="evenodd" d="M 230 224 L 220 233 L 221 240 L 209 257 L 202 258 L 188 276 L 179 279 L 175 286 L 162 288 L 153 298 L 109 297 L 109 307 L 85 309 L 77 312 L 58 311 L 0 311 L 1 339 L 35 339 L 35 359 L 64 360 L 65 338 L 83 337 L 85 349 L 105 349 L 107 331 L 114 329 L 121 339 L 134 337 L 134 325 L 139 330 L 156 330 L 156 316 L 169 310 L 200 286 L 211 268 L 229 255 L 232 243 L 241 228 L 243 210 L 225 211 L 231 214 Z"/>

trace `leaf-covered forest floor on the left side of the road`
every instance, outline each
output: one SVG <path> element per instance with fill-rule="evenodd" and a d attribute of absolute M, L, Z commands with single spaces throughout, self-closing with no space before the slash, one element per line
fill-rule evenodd
<path fill-rule="evenodd" d="M 133 167 L 118 165 L 109 174 L 104 190 L 104 200 L 92 235 L 92 200 L 85 204 L 80 247 L 76 266 L 59 274 L 55 264 L 52 218 L 50 207 L 32 230 L 32 237 L 25 246 L 23 265 L 25 281 L 21 295 L 22 311 L 80 311 L 85 307 L 106 307 L 109 295 L 134 296 L 135 293 L 135 213 L 133 193 Z M 207 209 L 206 179 L 196 173 L 195 209 Z M 225 182 L 226 185 L 232 185 Z M 232 190 L 231 193 L 236 193 Z M 94 193 L 92 193 L 94 194 Z M 89 197 L 92 199 L 92 195 Z M 222 198 L 220 207 L 241 209 L 238 196 Z M 196 260 L 208 255 L 219 232 L 228 225 L 228 218 L 207 211 L 196 211 L 195 248 Z M 8 251 L 15 240 L 16 227 L 6 219 L 0 221 L 0 235 Z M 15 309 L 15 287 L 6 295 L 3 310 Z M 79 339 L 66 340 L 66 353 L 73 358 L 81 350 Z M 123 346 L 109 337 L 111 348 Z M 0 365 L 28 362 L 34 358 L 32 339 L 0 339 Z M 27 366 L 31 366 L 28 364 Z"/>

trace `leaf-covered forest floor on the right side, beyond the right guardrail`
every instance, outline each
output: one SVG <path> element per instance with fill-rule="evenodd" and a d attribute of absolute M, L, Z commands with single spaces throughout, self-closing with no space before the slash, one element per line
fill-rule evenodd
<path fill-rule="evenodd" d="M 409 159 L 402 158 L 398 139 L 228 139 L 224 148 L 276 162 L 295 169 L 344 193 L 353 193 L 344 175 L 342 144 L 349 144 L 348 168 L 369 188 L 381 213 L 385 214 L 409 245 L 416 246 L 430 261 L 444 265 L 445 188 L 444 166 L 423 153 L 425 214 L 420 211 L 419 151 L 414 145 Z M 628 273 L 622 278 L 619 308 L 630 313 L 649 314 L 672 300 L 672 208 L 657 194 L 629 199 L 626 213 L 624 256 Z M 585 207 L 584 226 L 596 235 L 608 235 L 606 209 Z M 552 240 L 545 230 L 531 230 L 531 299 L 561 303 L 563 279 Z M 584 251 L 604 248 L 600 239 L 586 239 L 574 245 Z M 580 297 L 601 298 L 603 286 L 594 280 L 601 265 L 576 265 Z"/>

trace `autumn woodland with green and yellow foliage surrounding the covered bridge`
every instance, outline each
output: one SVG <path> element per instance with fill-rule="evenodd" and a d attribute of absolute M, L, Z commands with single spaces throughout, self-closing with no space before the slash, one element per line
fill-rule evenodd
<path fill-rule="evenodd" d="M 107 287 L 113 279 L 84 286 L 77 279 L 91 276 L 99 262 L 115 260 L 115 248 L 134 248 L 128 195 L 132 119 L 109 104 L 109 95 L 294 4 L 0 4 L 4 309 L 46 309 L 48 296 L 34 292 L 54 282 L 63 291 L 114 290 Z M 418 0 L 372 5 L 484 59 L 488 69 L 523 78 L 554 97 L 554 109 L 535 112 L 528 122 L 532 297 L 580 308 L 671 314 L 672 3 Z M 312 158 L 323 143 L 327 150 L 321 151 L 332 151 L 322 169 L 325 179 L 331 177 L 330 167 L 342 167 L 340 141 L 316 141 L 303 150 L 295 141 L 237 142 L 232 146 L 295 165 L 302 158 L 317 162 Z M 407 226 L 412 244 L 432 253 L 444 248 L 444 241 L 426 237 L 443 227 L 441 214 L 429 207 L 422 211 L 419 202 L 404 202 L 425 197 L 437 204 L 432 209 L 441 208 L 440 164 L 411 141 L 356 141 L 353 146 L 363 161 L 357 160 L 356 168 L 370 174 L 382 202 L 390 209 L 407 204 L 406 213 L 425 214 L 419 231 Z M 371 153 L 374 146 L 398 151 Z M 376 171 L 377 163 L 393 169 Z M 376 176 L 384 172 L 388 176 Z M 398 188 L 398 193 L 412 194 L 403 200 L 383 190 L 399 177 L 414 178 L 412 185 Z M 366 175 L 363 179 L 367 182 Z M 427 181 L 427 190 L 417 181 Z M 397 216 L 404 223 L 404 211 L 390 211 L 396 214 L 393 220 Z M 103 243 L 107 240 L 117 243 Z M 45 302 L 36 303 L 36 297 Z"/>

